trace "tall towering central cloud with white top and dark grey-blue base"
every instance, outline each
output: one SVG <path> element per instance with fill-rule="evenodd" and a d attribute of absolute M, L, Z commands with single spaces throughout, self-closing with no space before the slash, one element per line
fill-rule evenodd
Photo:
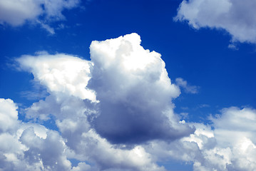
<path fill-rule="evenodd" d="M 97 132 L 114 143 L 174 140 L 193 132 L 178 123 L 171 100 L 180 89 L 170 82 L 160 54 L 140 46 L 131 33 L 91 43 L 89 87 L 100 100 Z"/>

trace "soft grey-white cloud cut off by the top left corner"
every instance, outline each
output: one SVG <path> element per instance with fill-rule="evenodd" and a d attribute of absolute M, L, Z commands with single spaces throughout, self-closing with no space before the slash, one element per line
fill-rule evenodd
<path fill-rule="evenodd" d="M 54 29 L 48 23 L 64 20 L 62 11 L 78 6 L 79 0 L 0 0 L 0 24 L 21 26 L 27 21 L 41 24 L 49 33 Z"/>

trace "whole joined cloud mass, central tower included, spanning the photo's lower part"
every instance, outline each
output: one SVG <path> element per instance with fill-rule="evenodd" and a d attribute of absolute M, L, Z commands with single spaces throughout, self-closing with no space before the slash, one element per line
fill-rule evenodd
<path fill-rule="evenodd" d="M 48 96 L 26 108 L 29 122 L 18 119 L 13 100 L 0 99 L 0 170 L 162 171 L 157 163 L 170 160 L 194 170 L 255 170 L 255 109 L 186 123 L 172 103 L 179 87 L 138 34 L 93 41 L 90 50 L 91 61 L 45 52 L 16 60 Z M 57 129 L 40 124 L 47 120 Z"/>

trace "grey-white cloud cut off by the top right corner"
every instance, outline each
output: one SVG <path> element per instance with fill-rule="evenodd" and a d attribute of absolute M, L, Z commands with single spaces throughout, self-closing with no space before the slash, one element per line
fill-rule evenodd
<path fill-rule="evenodd" d="M 254 0 L 184 0 L 175 20 L 188 21 L 196 29 L 224 29 L 232 36 L 232 42 L 256 43 L 255 8 Z"/>

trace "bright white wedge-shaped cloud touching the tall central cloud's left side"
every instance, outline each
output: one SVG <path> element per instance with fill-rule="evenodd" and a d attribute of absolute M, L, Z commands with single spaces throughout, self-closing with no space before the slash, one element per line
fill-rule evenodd
<path fill-rule="evenodd" d="M 65 54 L 21 56 L 17 61 L 21 69 L 34 74 L 36 81 L 48 88 L 48 93 L 73 95 L 96 102 L 96 95 L 86 88 L 90 80 L 89 61 Z"/>

